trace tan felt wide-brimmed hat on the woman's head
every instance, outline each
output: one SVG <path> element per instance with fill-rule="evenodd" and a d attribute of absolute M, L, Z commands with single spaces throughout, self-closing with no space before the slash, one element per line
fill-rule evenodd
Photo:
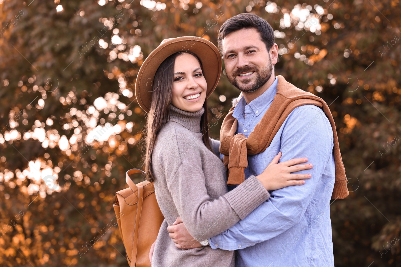
<path fill-rule="evenodd" d="M 198 56 L 202 62 L 203 75 L 207 82 L 207 94 L 209 97 L 215 90 L 221 75 L 221 55 L 217 47 L 210 41 L 196 36 L 182 36 L 173 38 L 160 44 L 145 59 L 135 83 L 135 96 L 139 106 L 149 112 L 152 100 L 153 79 L 160 64 L 179 51 L 190 51 Z"/>

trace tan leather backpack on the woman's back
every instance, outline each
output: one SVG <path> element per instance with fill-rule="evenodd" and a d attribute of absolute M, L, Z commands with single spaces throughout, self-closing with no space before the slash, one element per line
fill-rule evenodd
<path fill-rule="evenodd" d="M 130 175 L 141 172 L 145 173 L 140 169 L 127 171 L 129 187 L 115 193 L 113 205 L 130 267 L 150 267 L 150 247 L 164 220 L 154 184 L 148 181 L 134 184 L 130 178 Z"/>

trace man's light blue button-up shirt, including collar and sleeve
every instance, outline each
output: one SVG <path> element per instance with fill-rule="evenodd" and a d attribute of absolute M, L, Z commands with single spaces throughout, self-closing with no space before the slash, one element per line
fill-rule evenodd
<path fill-rule="evenodd" d="M 276 92 L 277 78 L 249 104 L 241 97 L 233 112 L 238 120 L 236 133 L 249 136 Z M 237 250 L 236 267 L 334 266 L 330 221 L 333 146 L 332 128 L 322 109 L 314 105 L 295 108 L 270 146 L 262 153 L 248 155 L 245 177 L 261 174 L 281 151 L 280 162 L 307 157 L 313 168 L 297 173 L 311 173 L 312 178 L 304 185 L 271 191 L 271 197 L 245 219 L 211 237 L 211 247 Z"/>

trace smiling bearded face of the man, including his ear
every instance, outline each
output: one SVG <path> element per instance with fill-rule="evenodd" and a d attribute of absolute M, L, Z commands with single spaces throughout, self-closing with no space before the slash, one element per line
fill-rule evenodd
<path fill-rule="evenodd" d="M 277 63 L 277 45 L 269 51 L 255 28 L 242 29 L 225 36 L 221 42 L 225 70 L 231 84 L 242 92 L 263 86 Z"/>

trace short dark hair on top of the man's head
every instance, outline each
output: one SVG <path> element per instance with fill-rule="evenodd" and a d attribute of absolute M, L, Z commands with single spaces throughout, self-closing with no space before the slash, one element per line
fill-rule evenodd
<path fill-rule="evenodd" d="M 259 32 L 267 50 L 270 50 L 274 44 L 274 32 L 269 22 L 255 14 L 242 13 L 229 18 L 221 26 L 219 37 L 217 39 L 220 54 L 223 55 L 221 42 L 225 36 L 229 35 L 231 32 L 236 32 L 237 30 L 249 28 L 255 28 Z"/>

